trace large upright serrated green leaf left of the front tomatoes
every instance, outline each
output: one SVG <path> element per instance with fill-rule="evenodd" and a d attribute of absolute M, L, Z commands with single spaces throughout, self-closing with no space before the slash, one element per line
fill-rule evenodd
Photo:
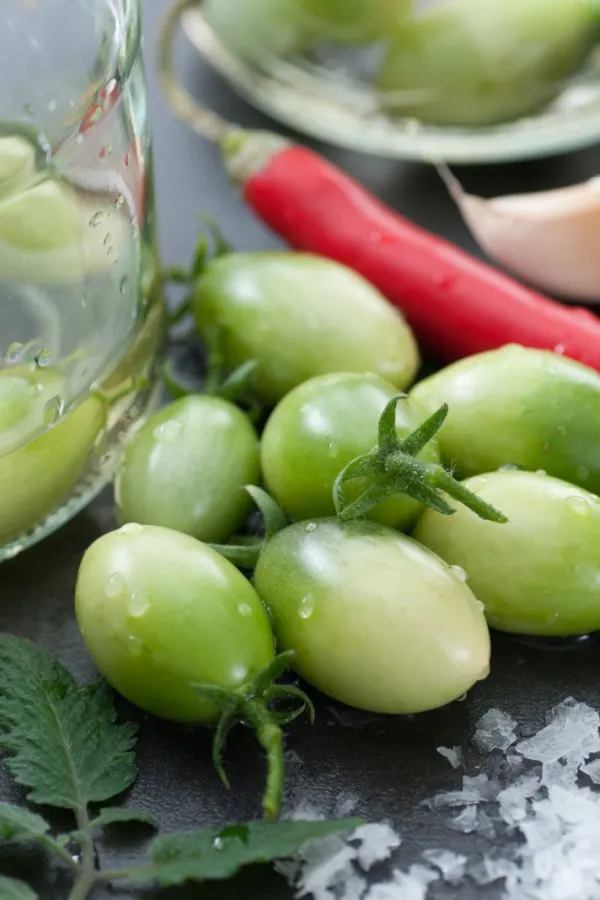
<path fill-rule="evenodd" d="M 0 635 L 0 748 L 28 799 L 81 809 L 120 794 L 136 777 L 136 728 L 117 724 L 104 682 L 79 687 L 35 644 Z"/>

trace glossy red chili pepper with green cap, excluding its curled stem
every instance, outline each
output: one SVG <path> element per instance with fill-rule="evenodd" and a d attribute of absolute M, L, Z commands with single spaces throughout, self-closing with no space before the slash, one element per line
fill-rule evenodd
<path fill-rule="evenodd" d="M 297 250 L 355 269 L 441 360 L 518 343 L 600 370 L 600 319 L 529 290 L 393 212 L 302 147 L 241 133 L 224 141 L 244 197 Z M 327 302 L 327 298 L 323 298 Z"/>

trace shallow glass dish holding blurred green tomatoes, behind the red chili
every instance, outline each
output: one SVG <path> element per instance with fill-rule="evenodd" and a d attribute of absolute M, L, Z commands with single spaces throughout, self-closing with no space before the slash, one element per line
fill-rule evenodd
<path fill-rule="evenodd" d="M 251 102 L 345 148 L 494 162 L 600 137 L 597 0 L 204 0 L 183 18 Z"/>

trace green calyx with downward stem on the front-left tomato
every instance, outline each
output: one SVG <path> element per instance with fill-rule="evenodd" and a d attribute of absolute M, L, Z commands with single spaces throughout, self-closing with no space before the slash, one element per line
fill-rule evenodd
<path fill-rule="evenodd" d="M 223 750 L 231 730 L 240 722 L 250 723 L 267 755 L 267 783 L 263 796 L 266 819 L 276 819 L 281 807 L 284 781 L 282 727 L 293 722 L 308 710 L 314 722 L 315 708 L 310 697 L 294 685 L 276 684 L 276 679 L 290 667 L 294 652 L 280 653 L 269 665 L 241 688 L 228 689 L 212 684 L 194 684 L 198 695 L 218 706 L 221 718 L 213 741 L 213 762 L 217 773 L 229 787 L 223 767 Z M 272 709 L 273 704 L 297 700 L 292 709 Z"/>

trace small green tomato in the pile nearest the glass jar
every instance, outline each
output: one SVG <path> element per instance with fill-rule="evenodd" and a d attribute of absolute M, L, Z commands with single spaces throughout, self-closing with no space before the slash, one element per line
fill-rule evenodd
<path fill-rule="evenodd" d="M 219 397 L 184 397 L 150 416 L 127 444 L 117 515 L 217 543 L 243 523 L 251 504 L 243 488 L 259 476 L 248 417 Z"/>

